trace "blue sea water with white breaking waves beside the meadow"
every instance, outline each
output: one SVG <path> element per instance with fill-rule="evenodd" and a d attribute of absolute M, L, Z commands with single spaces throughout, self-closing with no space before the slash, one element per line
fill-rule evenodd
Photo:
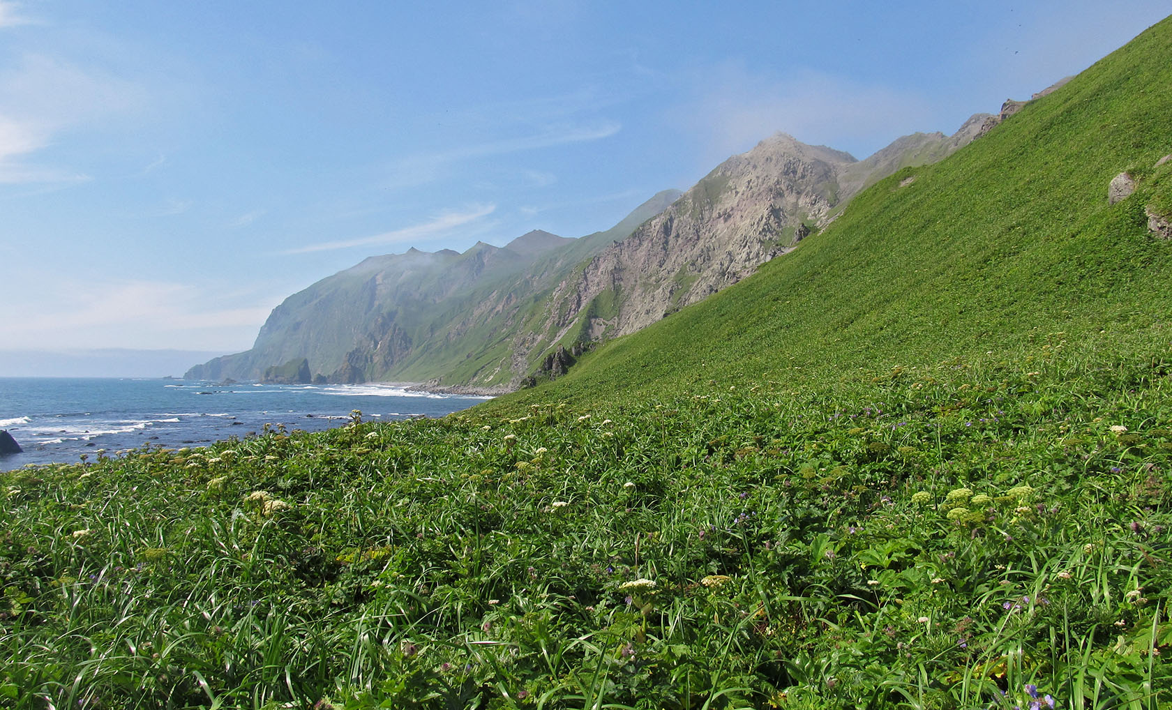
<path fill-rule="evenodd" d="M 184 380 L 0 377 L 0 429 L 23 453 L 0 455 L 0 470 L 77 463 L 151 446 L 200 446 L 260 432 L 265 424 L 320 431 L 363 419 L 440 417 L 485 397 L 409 391 L 393 384 L 212 384 Z"/>

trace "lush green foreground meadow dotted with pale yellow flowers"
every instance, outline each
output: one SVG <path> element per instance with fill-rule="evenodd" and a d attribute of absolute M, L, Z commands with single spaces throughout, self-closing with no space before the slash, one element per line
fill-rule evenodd
<path fill-rule="evenodd" d="M 0 695 L 1161 706 L 1166 366 L 1033 354 L 12 472 Z"/>

